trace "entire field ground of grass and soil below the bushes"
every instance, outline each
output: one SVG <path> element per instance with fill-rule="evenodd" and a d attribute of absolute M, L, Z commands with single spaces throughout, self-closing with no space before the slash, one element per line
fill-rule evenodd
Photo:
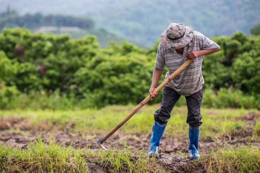
<path fill-rule="evenodd" d="M 144 106 L 105 142 L 105 146 L 109 147 L 107 152 L 100 149 L 95 143 L 96 139 L 121 121 L 134 106 L 107 106 L 100 110 L 77 111 L 1 111 L 0 140 L 5 142 L 0 146 L 0 171 L 260 171 L 259 111 L 203 108 L 200 130 L 202 158 L 189 161 L 185 148 L 185 106 L 175 107 L 172 112 L 162 139 L 163 153 L 157 158 L 146 156 L 153 113 L 158 107 L 159 104 Z M 34 139 L 26 136 L 34 136 Z M 169 151 L 165 147 L 167 145 L 175 148 Z"/>

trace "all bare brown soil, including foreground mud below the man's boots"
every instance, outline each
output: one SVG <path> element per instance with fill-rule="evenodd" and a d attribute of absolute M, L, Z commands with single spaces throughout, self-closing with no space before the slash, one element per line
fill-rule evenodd
<path fill-rule="evenodd" d="M 241 116 L 239 120 L 245 121 L 247 124 L 252 125 L 256 120 L 260 119 L 260 114 L 252 113 L 246 116 Z M 39 135 L 40 129 L 41 131 Z M 47 129 L 47 130 L 46 130 Z M 199 152 L 205 153 L 216 149 L 220 145 L 237 146 L 245 144 L 250 140 L 247 136 L 252 136 L 252 129 L 240 129 L 239 132 L 235 131 L 230 136 L 222 136 L 216 138 L 213 135 L 206 138 L 199 139 Z M 29 142 L 33 142 L 37 135 L 41 136 L 42 141 L 46 141 L 51 134 L 51 138 L 55 137 L 55 142 L 61 145 L 69 146 L 72 144 L 75 148 L 91 148 L 93 151 L 100 150 L 99 145 L 96 143 L 98 138 L 103 137 L 104 134 L 82 134 L 71 133 L 66 129 L 56 129 L 53 127 L 44 127 L 44 125 L 31 127 L 27 123 L 26 118 L 18 117 L 1 117 L 0 119 L 0 144 L 26 149 Z M 107 148 L 119 147 L 121 150 L 131 147 L 136 157 L 131 158 L 131 161 L 138 159 L 139 152 L 145 152 L 149 149 L 150 134 L 144 133 L 115 133 L 105 143 Z M 246 140 L 245 140 L 246 138 Z M 260 147 L 259 141 L 253 141 L 256 146 Z M 157 162 L 167 171 L 171 172 L 205 172 L 205 170 L 197 169 L 192 161 L 180 156 L 180 152 L 187 155 L 189 139 L 185 137 L 174 137 L 164 135 L 160 143 L 160 155 L 157 157 Z M 95 159 L 86 160 L 89 163 L 89 172 L 108 172 L 107 168 L 99 165 Z"/>

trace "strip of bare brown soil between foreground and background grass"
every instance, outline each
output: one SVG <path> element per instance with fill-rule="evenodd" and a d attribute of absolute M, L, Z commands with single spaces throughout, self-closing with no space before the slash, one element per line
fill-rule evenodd
<path fill-rule="evenodd" d="M 253 125 L 256 120 L 260 120 L 260 114 L 251 113 L 245 116 L 238 117 L 237 120 L 242 120 L 246 124 Z M 40 129 L 41 139 L 44 141 L 49 138 L 51 133 L 51 138 L 55 137 L 55 141 L 68 146 L 73 144 L 75 148 L 86 146 L 95 149 L 99 148 L 99 145 L 96 143 L 96 140 L 102 138 L 104 134 L 82 134 L 82 133 L 70 133 L 66 128 L 65 129 L 56 129 L 55 125 L 53 127 L 44 127 L 44 122 L 41 125 L 36 125 L 32 127 L 27 123 L 28 119 L 21 117 L 1 117 L 0 118 L 0 144 L 5 142 L 5 144 L 10 146 L 15 146 L 17 148 L 25 148 L 29 142 L 32 142 L 34 138 L 39 136 Z M 71 125 L 73 127 L 73 124 Z M 19 132 L 17 132 L 19 129 Z M 13 131 L 12 131 L 13 130 Z M 167 127 L 166 127 L 167 130 Z M 16 132 L 14 132 L 16 131 Z M 207 138 L 199 139 L 199 150 L 200 151 L 210 151 L 211 148 L 216 148 L 217 145 L 228 144 L 231 146 L 236 146 L 242 143 L 246 143 L 251 138 L 246 138 L 253 136 L 252 129 L 236 129 L 236 131 L 231 131 L 232 133 L 229 136 L 222 136 L 220 138 L 208 136 Z M 45 135 L 44 135 L 45 134 Z M 45 136 L 45 139 L 44 139 Z M 87 137 L 86 137 L 87 136 Z M 127 146 L 130 146 L 133 151 L 137 150 L 148 150 L 149 149 L 149 140 L 150 134 L 142 133 L 119 133 L 116 132 L 112 135 L 104 145 L 109 148 L 119 147 L 124 148 L 125 143 Z M 260 141 L 253 141 L 257 146 L 260 147 Z M 189 139 L 185 137 L 174 137 L 169 135 L 163 135 L 161 139 L 160 150 L 162 153 L 179 153 L 179 151 L 187 153 L 187 147 L 189 145 Z"/>

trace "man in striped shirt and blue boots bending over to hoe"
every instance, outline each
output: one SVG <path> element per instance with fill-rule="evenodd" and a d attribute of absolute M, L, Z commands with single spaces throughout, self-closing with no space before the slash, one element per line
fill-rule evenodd
<path fill-rule="evenodd" d="M 182 23 L 171 23 L 161 34 L 153 70 L 153 81 L 149 90 L 151 100 L 158 94 L 152 95 L 164 66 L 169 70 L 166 73 L 166 79 L 187 59 L 193 59 L 193 61 L 164 87 L 161 107 L 154 114 L 151 148 L 148 155 L 158 154 L 160 140 L 168 122 L 167 120 L 170 118 L 171 111 L 180 96 L 184 95 L 188 108 L 186 122 L 189 124 L 190 145 L 188 151 L 190 159 L 200 157 L 198 153 L 198 137 L 200 125 L 202 124 L 200 121 L 202 118 L 200 105 L 203 95 L 202 85 L 204 84 L 201 65 L 204 55 L 213 54 L 219 50 L 220 46 L 218 44 Z"/>

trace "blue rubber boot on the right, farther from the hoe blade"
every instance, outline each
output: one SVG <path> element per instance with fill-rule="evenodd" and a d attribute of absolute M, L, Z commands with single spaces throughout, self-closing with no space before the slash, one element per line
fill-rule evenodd
<path fill-rule="evenodd" d="M 200 127 L 192 127 L 189 125 L 189 139 L 190 139 L 190 145 L 189 145 L 189 153 L 190 153 L 190 160 L 198 159 L 200 158 L 200 155 L 198 153 L 198 136 L 200 132 Z"/>

